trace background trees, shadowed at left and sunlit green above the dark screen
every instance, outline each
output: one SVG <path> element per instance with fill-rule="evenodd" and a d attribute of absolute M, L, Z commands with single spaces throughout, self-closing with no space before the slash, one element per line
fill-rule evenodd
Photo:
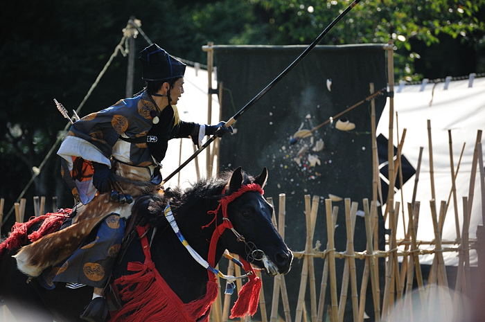
<path fill-rule="evenodd" d="M 215 44 L 308 44 L 349 0 L 78 0 L 8 1 L 0 17 L 0 196 L 7 207 L 44 161 L 66 120 L 55 110 L 57 98 L 76 108 L 122 37 L 130 16 L 142 21 L 153 42 L 178 57 L 205 61 L 201 46 Z M 430 48 L 465 46 L 484 53 L 485 0 L 362 0 L 322 44 L 396 44 L 397 79 L 416 78 L 414 66 L 433 62 Z M 139 51 L 146 42 L 137 39 Z M 434 49 L 436 50 L 436 49 Z M 482 60 L 467 69 L 481 71 Z M 470 62 L 468 62 L 470 64 Z M 118 55 L 82 110 L 81 116 L 112 105 L 125 95 L 126 60 Z M 441 63 L 440 63 L 441 64 Z M 448 62 L 463 75 L 464 62 Z M 434 70 L 438 64 L 423 70 Z M 139 66 L 136 79 L 139 80 Z M 441 68 L 442 66 L 439 66 Z M 443 69 L 437 69 L 441 73 Z M 446 72 L 446 71 L 445 71 Z M 444 73 L 444 72 L 443 72 Z M 455 74 L 456 75 L 456 74 Z M 444 77 L 445 75 L 441 75 Z M 136 82 L 135 89 L 142 86 Z M 58 159 L 52 157 L 32 195 L 64 195 Z"/>

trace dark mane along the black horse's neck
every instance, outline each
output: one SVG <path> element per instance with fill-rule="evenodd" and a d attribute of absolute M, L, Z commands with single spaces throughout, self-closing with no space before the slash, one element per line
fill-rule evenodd
<path fill-rule="evenodd" d="M 243 173 L 243 184 L 250 184 L 254 181 L 254 177 Z M 231 179 L 232 171 L 224 171 L 217 178 L 200 179 L 192 184 L 192 186 L 182 189 L 180 187 L 168 188 L 164 191 L 164 196 L 147 195 L 136 199 L 133 206 L 134 209 L 141 211 L 143 217 L 148 220 L 152 226 L 165 226 L 167 224 L 163 215 L 168 201 L 174 213 L 175 218 L 180 218 L 183 211 L 177 211 L 179 208 L 189 208 L 194 204 L 200 204 L 201 200 L 213 201 L 222 197 L 222 189 L 226 186 L 229 179 Z M 145 203 L 148 202 L 148 205 Z M 181 209 L 182 210 L 182 209 Z"/>

